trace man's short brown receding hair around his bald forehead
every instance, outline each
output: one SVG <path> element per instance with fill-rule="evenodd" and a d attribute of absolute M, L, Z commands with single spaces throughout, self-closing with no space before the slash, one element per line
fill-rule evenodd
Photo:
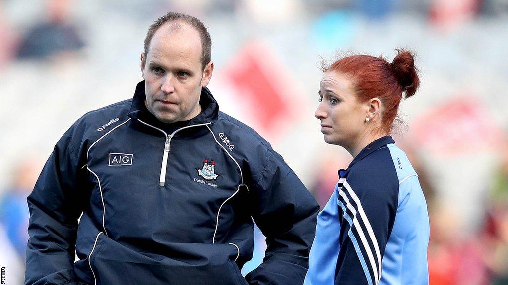
<path fill-rule="evenodd" d="M 158 18 L 153 24 L 148 28 L 148 32 L 146 33 L 145 38 L 145 56 L 148 55 L 148 50 L 150 49 L 150 42 L 153 38 L 153 34 L 160 28 L 164 23 L 167 22 L 176 22 L 182 21 L 192 27 L 194 27 L 201 36 L 201 63 L 203 64 L 203 69 L 210 62 L 212 57 L 212 39 L 210 37 L 210 33 L 208 29 L 205 27 L 203 22 L 201 22 L 198 18 L 189 16 L 187 14 L 169 12 L 168 14 Z"/>

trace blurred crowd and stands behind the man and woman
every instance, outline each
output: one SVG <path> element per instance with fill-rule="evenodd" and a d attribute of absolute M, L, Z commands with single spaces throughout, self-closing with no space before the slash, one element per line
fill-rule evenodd
<path fill-rule="evenodd" d="M 421 88 L 393 135 L 428 204 L 430 283 L 508 284 L 508 1 L 0 0 L 0 265 L 21 284 L 26 196 L 84 113 L 131 98 L 148 26 L 167 11 L 212 35 L 209 88 L 264 135 L 321 205 L 352 158 L 313 113 L 322 60 L 417 53 Z M 257 231 L 254 258 L 264 257 Z"/>

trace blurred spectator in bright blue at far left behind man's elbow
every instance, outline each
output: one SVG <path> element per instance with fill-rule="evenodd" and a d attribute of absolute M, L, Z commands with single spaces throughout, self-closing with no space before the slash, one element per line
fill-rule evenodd
<path fill-rule="evenodd" d="M 13 183 L 3 191 L 0 202 L 0 223 L 7 232 L 7 237 L 19 257 L 25 259 L 26 242 L 28 241 L 28 206 L 26 197 L 34 189 L 37 176 L 42 169 L 36 160 L 26 160 L 14 170 Z"/>

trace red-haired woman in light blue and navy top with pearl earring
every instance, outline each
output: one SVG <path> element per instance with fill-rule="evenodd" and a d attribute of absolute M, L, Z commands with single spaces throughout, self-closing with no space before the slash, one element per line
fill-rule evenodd
<path fill-rule="evenodd" d="M 306 285 L 427 284 L 429 219 L 418 175 L 389 135 L 419 86 L 410 52 L 342 58 L 324 71 L 315 117 L 353 162 L 319 214 Z"/>

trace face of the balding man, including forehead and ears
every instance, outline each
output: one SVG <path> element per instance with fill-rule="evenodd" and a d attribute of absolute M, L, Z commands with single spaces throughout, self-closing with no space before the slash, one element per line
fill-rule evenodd
<path fill-rule="evenodd" d="M 212 76 L 213 62 L 204 70 L 201 38 L 182 22 L 161 26 L 153 35 L 148 54 L 141 54 L 148 111 L 164 123 L 193 119 L 201 112 L 201 89 Z"/>

